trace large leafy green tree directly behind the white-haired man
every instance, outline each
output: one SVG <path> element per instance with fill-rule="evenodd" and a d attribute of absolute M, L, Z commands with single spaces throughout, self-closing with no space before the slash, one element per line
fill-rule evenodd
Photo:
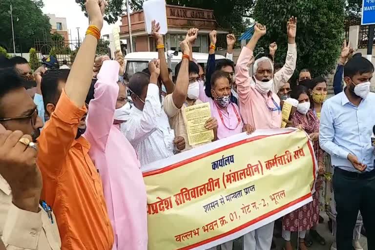
<path fill-rule="evenodd" d="M 297 17 L 297 70 L 309 68 L 314 76 L 330 73 L 337 62 L 344 32 L 345 0 L 262 0 L 254 19 L 267 26 L 258 44 L 277 42 L 276 62 L 285 62 L 287 21 Z"/>

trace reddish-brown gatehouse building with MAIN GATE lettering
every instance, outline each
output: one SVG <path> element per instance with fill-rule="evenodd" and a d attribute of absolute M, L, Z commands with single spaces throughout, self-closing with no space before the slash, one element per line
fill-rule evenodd
<path fill-rule="evenodd" d="M 193 52 L 208 53 L 208 34 L 216 29 L 218 34 L 228 32 L 221 28 L 215 20 L 213 10 L 166 5 L 168 33 L 164 36 L 167 50 L 181 51 L 179 44 L 185 37 L 189 28 L 199 28 L 198 38 L 193 46 Z M 143 10 L 130 14 L 133 51 L 156 51 L 156 44 L 150 34 L 146 32 L 145 16 Z M 122 16 L 120 38 L 126 39 L 128 47 L 129 25 L 127 15 Z M 130 52 L 128 50 L 128 52 Z"/>

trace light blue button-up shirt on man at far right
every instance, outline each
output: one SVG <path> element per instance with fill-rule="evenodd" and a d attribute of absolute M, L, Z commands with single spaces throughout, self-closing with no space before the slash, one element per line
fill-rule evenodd
<path fill-rule="evenodd" d="M 358 106 L 349 102 L 345 91 L 324 102 L 320 113 L 320 147 L 331 155 L 332 165 L 346 171 L 359 172 L 347 159 L 353 154 L 374 169 L 374 147 L 371 135 L 375 125 L 375 93 L 369 93 Z"/>

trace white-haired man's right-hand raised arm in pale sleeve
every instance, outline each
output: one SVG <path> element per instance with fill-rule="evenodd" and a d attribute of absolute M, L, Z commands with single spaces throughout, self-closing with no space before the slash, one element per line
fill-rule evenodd
<path fill-rule="evenodd" d="M 294 74 L 296 62 L 297 62 L 297 49 L 295 44 L 295 36 L 297 32 L 297 18 L 290 18 L 287 23 L 287 34 L 288 34 L 288 52 L 287 58 L 285 59 L 284 66 L 275 73 L 274 84 L 276 84 L 276 93 L 279 89 L 291 79 Z"/>

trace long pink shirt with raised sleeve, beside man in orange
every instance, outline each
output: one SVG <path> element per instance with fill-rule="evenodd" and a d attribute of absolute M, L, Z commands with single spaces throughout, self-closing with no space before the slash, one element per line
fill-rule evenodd
<path fill-rule="evenodd" d="M 134 148 L 113 125 L 119 94 L 119 64 L 105 61 L 88 107 L 84 137 L 103 182 L 104 198 L 114 230 L 113 250 L 147 250 L 147 198 Z"/>

